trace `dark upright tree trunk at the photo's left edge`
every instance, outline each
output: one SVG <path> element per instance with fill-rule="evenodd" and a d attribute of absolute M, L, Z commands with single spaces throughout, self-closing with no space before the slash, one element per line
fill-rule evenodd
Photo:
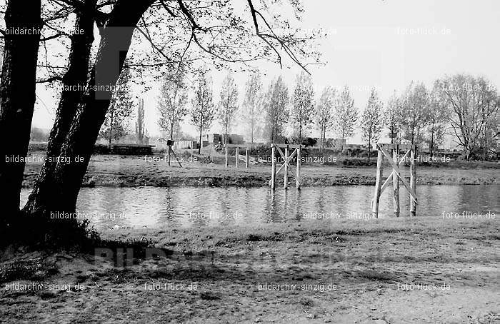
<path fill-rule="evenodd" d="M 0 191 L 1 223 L 19 212 L 19 196 L 28 153 L 36 88 L 36 61 L 42 21 L 41 1 L 9 0 L 5 13 L 6 36 L 0 84 Z M 27 34 L 29 32 L 30 34 Z M 16 34 L 14 34 L 16 33 Z"/>

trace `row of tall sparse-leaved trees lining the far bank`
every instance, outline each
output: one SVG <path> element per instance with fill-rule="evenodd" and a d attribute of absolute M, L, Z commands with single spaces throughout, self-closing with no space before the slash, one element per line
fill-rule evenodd
<path fill-rule="evenodd" d="M 190 107 L 189 91 L 193 94 Z M 191 86 L 186 84 L 186 71 L 178 70 L 164 76 L 161 83 L 159 126 L 174 139 L 181 135 L 180 123 L 188 117 L 201 143 L 202 133 L 218 120 L 226 143 L 231 128 L 239 122 L 251 146 L 256 138 L 271 143 L 302 143 L 314 129 L 319 132 L 321 151 L 329 133 L 339 136 L 343 151 L 344 140 L 354 136 L 356 130 L 370 148 L 386 130 L 391 143 L 425 147 L 431 155 L 444 143 L 445 136 L 451 135 L 466 159 L 487 159 L 496 154 L 500 97 L 483 77 L 444 76 L 432 88 L 412 81 L 402 93 L 394 91 L 385 104 L 371 88 L 362 109 L 355 106 L 349 86 L 341 91 L 326 86 L 319 98 L 315 96 L 311 76 L 304 71 L 296 76 L 291 95 L 281 76 L 265 88 L 261 74 L 255 71 L 245 83 L 240 106 L 231 73 L 222 81 L 217 101 L 206 69 L 196 74 Z M 293 131 L 287 134 L 288 124 Z"/>

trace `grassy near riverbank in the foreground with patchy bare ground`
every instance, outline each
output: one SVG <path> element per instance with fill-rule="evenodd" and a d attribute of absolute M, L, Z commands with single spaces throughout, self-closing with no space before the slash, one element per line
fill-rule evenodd
<path fill-rule="evenodd" d="M 19 258 L 33 267 L 8 280 L 13 260 L 4 261 L 0 317 L 12 323 L 496 323 L 499 230 L 498 219 L 422 217 L 102 231 L 115 243 L 97 246 L 97 256 L 23 251 Z M 131 244 L 136 247 L 126 250 Z M 161 248 L 154 253 L 164 257 L 131 262 L 131 255 L 144 254 L 141 244 Z M 6 289 L 15 283 L 44 288 Z M 76 283 L 79 289 L 61 288 Z"/>

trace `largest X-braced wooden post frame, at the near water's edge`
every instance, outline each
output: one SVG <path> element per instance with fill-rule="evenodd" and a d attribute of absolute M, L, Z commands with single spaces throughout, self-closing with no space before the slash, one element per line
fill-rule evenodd
<path fill-rule="evenodd" d="M 389 182 L 392 180 L 393 185 L 393 202 L 394 202 L 394 215 L 399 217 L 399 181 L 403 183 L 406 190 L 410 193 L 410 213 L 411 216 L 416 215 L 416 166 L 415 166 L 415 158 L 416 158 L 416 146 L 403 145 L 403 144 L 376 144 L 376 148 L 378 151 L 377 159 L 376 159 L 376 183 L 375 183 L 375 192 L 374 198 L 371 201 L 371 212 L 374 218 L 379 217 L 379 202 L 380 196 L 384 192 L 384 189 L 389 186 Z M 389 154 L 389 151 L 392 150 L 392 156 Z M 406 153 L 398 161 L 399 151 L 405 151 Z M 401 176 L 400 166 L 405 161 L 405 159 L 410 155 L 410 183 L 406 181 L 406 179 Z M 382 183 L 382 176 L 384 168 L 382 163 L 384 162 L 384 156 L 389 164 L 391 164 L 391 174 L 386 181 Z"/>

